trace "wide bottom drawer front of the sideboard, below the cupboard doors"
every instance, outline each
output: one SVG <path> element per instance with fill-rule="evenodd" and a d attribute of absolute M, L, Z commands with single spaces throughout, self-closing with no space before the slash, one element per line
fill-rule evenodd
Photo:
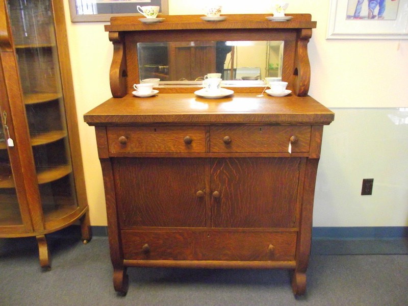
<path fill-rule="evenodd" d="M 296 232 L 122 231 L 127 260 L 279 260 L 295 258 Z"/>

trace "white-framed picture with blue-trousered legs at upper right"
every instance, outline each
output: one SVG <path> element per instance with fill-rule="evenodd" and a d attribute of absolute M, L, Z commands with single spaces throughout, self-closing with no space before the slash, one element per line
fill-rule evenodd
<path fill-rule="evenodd" d="M 408 0 L 330 0 L 327 39 L 408 39 Z"/>

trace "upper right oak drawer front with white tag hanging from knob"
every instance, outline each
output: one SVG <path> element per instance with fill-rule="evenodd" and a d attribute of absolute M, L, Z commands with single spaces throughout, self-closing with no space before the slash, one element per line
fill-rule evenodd
<path fill-rule="evenodd" d="M 288 152 L 292 136 L 292 152 L 309 152 L 310 125 L 240 125 L 211 126 L 211 152 Z M 228 139 L 231 140 L 228 143 Z"/>

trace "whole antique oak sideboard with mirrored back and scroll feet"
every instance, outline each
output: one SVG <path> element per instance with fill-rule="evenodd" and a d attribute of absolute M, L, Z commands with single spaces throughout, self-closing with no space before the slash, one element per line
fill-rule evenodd
<path fill-rule="evenodd" d="M 290 269 L 293 292 L 305 292 L 323 126 L 334 120 L 308 96 L 316 22 L 309 14 L 227 16 L 106 25 L 113 97 L 84 119 L 95 126 L 119 293 L 129 286 L 127 267 Z M 194 86 L 159 85 L 156 96 L 132 95 L 138 42 L 220 40 L 284 41 L 282 79 L 292 93 L 228 87 L 233 95 L 206 99 Z"/>

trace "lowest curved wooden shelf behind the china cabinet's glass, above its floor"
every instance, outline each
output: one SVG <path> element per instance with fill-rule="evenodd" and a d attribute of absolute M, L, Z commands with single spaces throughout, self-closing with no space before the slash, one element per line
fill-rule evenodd
<path fill-rule="evenodd" d="M 38 184 L 46 184 L 57 181 L 71 173 L 72 169 L 69 165 L 59 165 L 54 167 L 39 168 L 37 170 Z M 12 175 L 2 175 L 0 173 L 0 188 L 14 188 L 14 180 Z"/>

